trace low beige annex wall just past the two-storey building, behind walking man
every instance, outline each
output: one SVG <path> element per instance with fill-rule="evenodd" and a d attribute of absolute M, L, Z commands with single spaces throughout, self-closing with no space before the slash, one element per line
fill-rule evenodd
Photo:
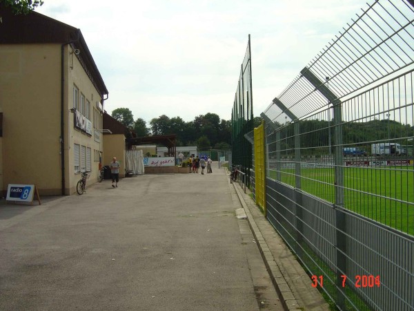
<path fill-rule="evenodd" d="M 103 144 L 105 151 L 103 152 L 102 165 L 109 165 L 112 158 L 117 158 L 121 167 L 119 168 L 119 178 L 125 177 L 125 136 L 122 134 L 105 134 L 103 135 Z"/>

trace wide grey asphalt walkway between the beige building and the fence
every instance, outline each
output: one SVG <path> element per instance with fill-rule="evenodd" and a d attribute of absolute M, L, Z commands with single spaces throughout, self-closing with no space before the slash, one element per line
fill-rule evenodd
<path fill-rule="evenodd" d="M 248 220 L 235 217 L 241 198 Z M 115 189 L 103 180 L 83 196 L 41 199 L 0 202 L 0 310 L 302 307 L 275 291 L 250 229 L 264 218 L 217 164 L 212 174 L 135 176 Z"/>

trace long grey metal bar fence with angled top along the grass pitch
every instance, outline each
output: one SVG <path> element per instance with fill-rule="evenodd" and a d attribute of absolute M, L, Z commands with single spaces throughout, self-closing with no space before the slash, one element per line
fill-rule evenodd
<path fill-rule="evenodd" d="M 267 218 L 340 310 L 414 310 L 413 22 L 371 1 L 262 113 Z"/>

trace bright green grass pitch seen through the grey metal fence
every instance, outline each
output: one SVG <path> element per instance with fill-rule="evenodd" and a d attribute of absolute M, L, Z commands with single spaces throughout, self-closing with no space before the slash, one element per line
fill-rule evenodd
<path fill-rule="evenodd" d="M 301 189 L 335 202 L 333 168 L 302 169 Z M 414 168 L 344 167 L 344 208 L 414 235 Z M 276 179 L 277 172 L 270 171 Z M 295 169 L 282 169 L 281 181 L 295 187 Z"/>

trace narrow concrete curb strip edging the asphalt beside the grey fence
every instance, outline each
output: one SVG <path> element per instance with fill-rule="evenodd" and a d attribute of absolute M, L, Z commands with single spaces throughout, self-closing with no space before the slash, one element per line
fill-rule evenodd
<path fill-rule="evenodd" d="M 253 215 L 250 213 L 250 209 L 248 209 L 246 202 L 244 202 L 244 198 L 240 193 L 239 188 L 235 185 L 235 183 L 233 183 L 233 186 L 236 190 L 237 197 L 239 198 L 239 201 L 244 208 L 244 211 L 246 211 L 248 224 L 253 232 L 253 236 L 255 236 L 257 247 L 259 247 L 260 254 L 262 254 L 264 264 L 266 265 L 266 269 L 268 270 L 273 286 L 275 286 L 275 290 L 277 294 L 279 294 L 279 298 L 282 301 L 284 310 L 303 310 L 303 308 L 299 307 L 299 303 L 296 301 L 292 290 L 290 290 L 284 274 L 279 269 L 279 265 L 277 265 L 273 254 L 270 252 L 270 249 L 262 235 L 262 232 L 260 232 L 260 229 L 257 226 Z"/>

